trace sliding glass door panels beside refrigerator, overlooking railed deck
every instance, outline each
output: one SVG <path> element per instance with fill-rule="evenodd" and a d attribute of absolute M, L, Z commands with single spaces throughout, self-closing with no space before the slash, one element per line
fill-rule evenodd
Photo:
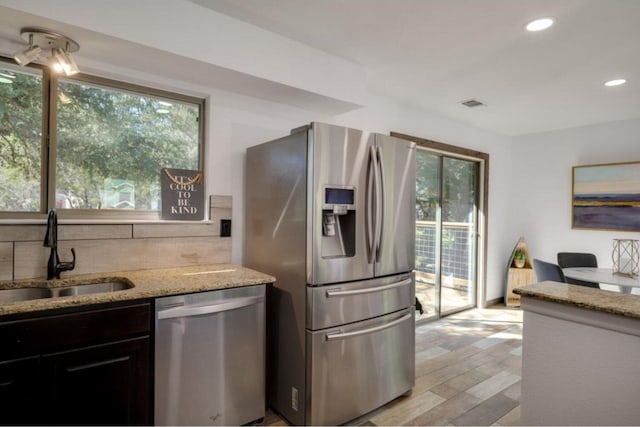
<path fill-rule="evenodd" d="M 431 319 L 476 305 L 480 162 L 418 148 L 416 297 Z"/>

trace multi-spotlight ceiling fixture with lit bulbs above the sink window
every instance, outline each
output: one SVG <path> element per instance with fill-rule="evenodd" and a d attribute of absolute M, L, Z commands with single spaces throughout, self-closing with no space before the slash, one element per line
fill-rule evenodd
<path fill-rule="evenodd" d="M 47 63 L 56 73 L 71 76 L 80 71 L 71 56 L 80 49 L 80 45 L 69 37 L 38 28 L 23 28 L 20 35 L 29 46 L 13 55 L 18 65 L 27 65 L 49 55 Z"/>

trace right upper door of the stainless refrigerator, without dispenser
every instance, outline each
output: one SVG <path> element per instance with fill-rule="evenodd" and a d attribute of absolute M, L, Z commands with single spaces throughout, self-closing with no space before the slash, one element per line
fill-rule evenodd
<path fill-rule="evenodd" d="M 382 215 L 375 275 L 411 271 L 415 265 L 416 145 L 376 134 Z"/>

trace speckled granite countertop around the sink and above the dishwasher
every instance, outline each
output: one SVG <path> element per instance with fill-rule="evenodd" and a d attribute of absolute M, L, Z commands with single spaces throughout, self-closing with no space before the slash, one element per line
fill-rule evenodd
<path fill-rule="evenodd" d="M 105 281 L 128 281 L 133 284 L 133 288 L 114 292 L 0 303 L 0 316 L 260 285 L 273 283 L 275 282 L 275 278 L 233 264 L 212 264 L 179 268 L 82 274 L 56 280 L 39 278 L 0 281 L 0 289 L 33 287 L 62 288 L 74 286 L 78 283 L 91 284 Z"/>

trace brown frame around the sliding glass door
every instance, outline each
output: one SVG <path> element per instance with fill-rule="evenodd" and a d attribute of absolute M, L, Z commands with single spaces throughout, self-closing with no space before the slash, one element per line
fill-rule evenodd
<path fill-rule="evenodd" d="M 431 151 L 434 154 L 450 157 L 450 158 L 458 158 L 463 160 L 470 160 L 478 163 L 477 168 L 477 190 L 478 194 L 476 197 L 477 209 L 476 209 L 476 286 L 475 286 L 475 306 L 477 307 L 486 307 L 486 282 L 487 282 L 487 262 L 486 262 L 486 253 L 487 253 L 487 224 L 488 224 L 488 200 L 489 200 L 489 154 L 483 153 L 481 151 L 470 150 L 467 148 L 457 147 L 450 144 L 445 144 L 442 142 L 432 141 L 424 138 L 418 138 L 411 135 L 406 135 L 398 132 L 391 132 L 391 136 L 395 136 L 397 138 L 406 139 L 409 141 L 415 142 L 419 147 L 426 149 L 427 151 Z M 442 163 L 442 160 L 441 160 Z M 442 167 L 440 168 L 440 182 L 442 182 Z M 442 195 L 440 195 L 439 205 L 442 203 Z M 436 238 L 442 239 L 442 230 L 441 225 L 442 221 L 440 218 L 440 208 L 437 213 L 437 221 L 440 224 L 440 227 L 437 227 L 437 236 Z M 438 251 L 439 252 L 439 251 Z M 440 261 L 441 254 L 436 254 L 436 280 L 441 280 L 441 270 L 440 270 Z M 439 283 L 438 283 L 439 284 Z M 440 297 L 439 294 L 440 286 L 436 286 L 436 313 L 434 316 L 424 317 L 416 322 L 422 323 L 437 319 L 441 315 L 441 307 L 440 307 Z M 473 305 L 471 305 L 473 307 Z M 447 313 L 442 313 L 444 315 L 453 314 L 455 312 L 466 310 L 469 307 L 462 307 L 460 310 L 450 311 Z"/>

